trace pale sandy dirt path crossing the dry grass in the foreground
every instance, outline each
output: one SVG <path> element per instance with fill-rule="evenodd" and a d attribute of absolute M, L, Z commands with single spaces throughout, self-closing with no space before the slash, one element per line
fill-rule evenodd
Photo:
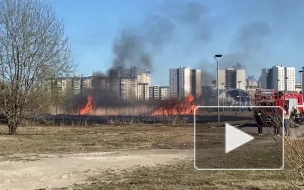
<path fill-rule="evenodd" d="M 193 157 L 193 150 L 134 150 L 65 155 L 14 155 L 0 162 L 0 189 L 68 187 L 103 170 L 154 166 Z M 3 159 L 3 158 L 2 158 Z"/>

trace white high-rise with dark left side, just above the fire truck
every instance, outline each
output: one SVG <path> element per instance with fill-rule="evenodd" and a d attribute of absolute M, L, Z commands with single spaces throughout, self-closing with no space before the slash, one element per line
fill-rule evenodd
<path fill-rule="evenodd" d="M 273 66 L 270 69 L 262 69 L 262 88 L 274 89 L 278 91 L 294 92 L 296 84 L 295 68 Z"/>

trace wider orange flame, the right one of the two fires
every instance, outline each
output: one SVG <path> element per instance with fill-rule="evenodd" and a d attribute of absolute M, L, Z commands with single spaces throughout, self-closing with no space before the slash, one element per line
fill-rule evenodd
<path fill-rule="evenodd" d="M 156 111 L 154 111 L 152 115 L 191 115 L 197 106 L 194 104 L 194 99 L 195 98 L 193 95 L 189 95 L 181 102 L 176 101 L 174 103 L 171 102 L 171 105 L 169 106 L 161 106 Z M 169 101 L 172 100 L 168 100 L 168 102 L 164 104 L 170 104 Z"/>

